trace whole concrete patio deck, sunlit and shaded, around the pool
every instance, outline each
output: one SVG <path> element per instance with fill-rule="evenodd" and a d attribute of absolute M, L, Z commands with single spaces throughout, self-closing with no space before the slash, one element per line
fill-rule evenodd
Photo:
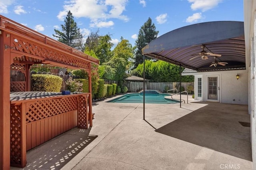
<path fill-rule="evenodd" d="M 250 122 L 246 105 L 190 96 L 182 108 L 145 104 L 145 121 L 143 104 L 106 101 L 93 103 L 92 128 L 74 128 L 29 150 L 24 169 L 252 169 L 250 127 L 239 123 Z"/>

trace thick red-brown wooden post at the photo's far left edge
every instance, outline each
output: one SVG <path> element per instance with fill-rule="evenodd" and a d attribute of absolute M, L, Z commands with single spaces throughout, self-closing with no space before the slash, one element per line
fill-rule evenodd
<path fill-rule="evenodd" d="M 10 169 L 10 34 L 0 34 L 0 169 Z"/>

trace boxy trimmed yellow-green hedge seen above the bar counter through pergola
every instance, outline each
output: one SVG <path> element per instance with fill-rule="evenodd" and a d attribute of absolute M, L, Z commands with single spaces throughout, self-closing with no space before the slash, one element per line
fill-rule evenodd
<path fill-rule="evenodd" d="M 49 74 L 32 74 L 32 91 L 60 92 L 62 78 Z"/>

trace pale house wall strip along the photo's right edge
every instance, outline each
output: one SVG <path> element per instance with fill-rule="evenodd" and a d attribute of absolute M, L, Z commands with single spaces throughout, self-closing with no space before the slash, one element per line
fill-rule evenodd
<path fill-rule="evenodd" d="M 252 38 L 254 37 L 254 44 Z M 251 143 L 253 168 L 256 169 L 256 1 L 244 0 L 244 39 L 246 49 L 246 65 L 250 70 L 249 79 L 249 113 L 251 114 Z M 250 66 L 250 67 L 249 67 Z"/>

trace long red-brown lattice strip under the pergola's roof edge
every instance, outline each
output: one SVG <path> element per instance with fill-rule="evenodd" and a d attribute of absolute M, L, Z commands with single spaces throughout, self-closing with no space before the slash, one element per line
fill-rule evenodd
<path fill-rule="evenodd" d="M 42 57 L 43 60 L 54 61 L 57 63 L 67 64 L 70 66 L 77 66 L 80 68 L 89 69 L 90 63 L 79 58 L 70 57 L 65 53 L 60 53 L 55 49 L 50 49 L 49 47 L 44 47 L 43 45 L 33 43 L 32 41 L 24 38 L 13 37 L 12 38 L 13 46 L 12 49 L 20 51 L 22 53 L 28 53 L 37 57 Z M 26 57 L 15 57 L 14 60 L 18 61 L 28 61 Z M 31 59 L 33 60 L 33 59 Z"/>

